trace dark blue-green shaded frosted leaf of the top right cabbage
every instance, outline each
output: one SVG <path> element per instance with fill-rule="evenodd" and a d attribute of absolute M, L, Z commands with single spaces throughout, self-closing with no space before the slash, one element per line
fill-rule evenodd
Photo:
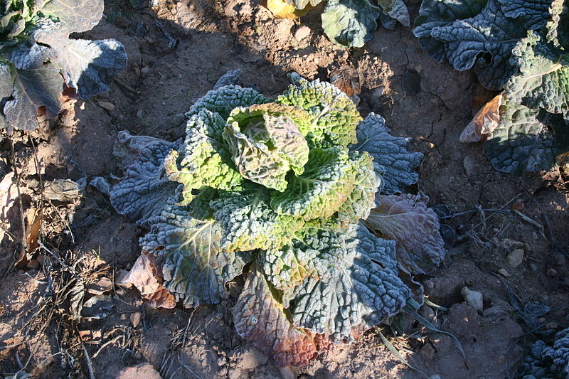
<path fill-rule="evenodd" d="M 423 4 L 413 31 L 422 48 L 439 62 L 452 63 L 456 70 L 472 68 L 491 90 L 499 90 L 514 73 L 510 58 L 516 42 L 548 21 L 546 1 L 442 0 Z"/>

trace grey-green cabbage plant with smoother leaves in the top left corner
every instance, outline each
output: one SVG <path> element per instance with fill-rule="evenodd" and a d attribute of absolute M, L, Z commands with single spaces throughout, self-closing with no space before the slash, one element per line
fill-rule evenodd
<path fill-rule="evenodd" d="M 103 0 L 7 0 L 0 4 L 0 129 L 33 130 L 60 110 L 71 87 L 82 99 L 109 90 L 127 63 L 114 39 L 69 38 L 100 21 Z"/>

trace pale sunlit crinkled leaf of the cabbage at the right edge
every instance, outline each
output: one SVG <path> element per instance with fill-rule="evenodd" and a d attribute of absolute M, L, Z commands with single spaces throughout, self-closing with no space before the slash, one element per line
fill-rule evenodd
<path fill-rule="evenodd" d="M 530 108 L 543 108 L 551 113 L 569 110 L 569 53 L 541 43 L 529 33 L 514 51 L 520 73 L 506 84 L 510 102 Z"/>

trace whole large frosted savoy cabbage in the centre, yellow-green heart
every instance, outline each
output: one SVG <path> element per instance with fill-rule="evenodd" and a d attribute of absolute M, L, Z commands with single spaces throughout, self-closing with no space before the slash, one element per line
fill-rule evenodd
<path fill-rule="evenodd" d="M 400 194 L 422 154 L 327 82 L 292 75 L 271 100 L 227 78 L 186 114 L 183 140 L 119 134 L 111 202 L 149 229 L 142 250 L 176 300 L 216 304 L 244 274 L 238 333 L 304 365 L 398 314 L 410 276 L 445 256 L 427 199 Z"/>

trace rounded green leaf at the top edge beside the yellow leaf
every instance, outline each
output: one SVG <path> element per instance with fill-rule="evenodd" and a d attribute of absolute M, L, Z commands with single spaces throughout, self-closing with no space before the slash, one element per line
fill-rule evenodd
<path fill-rule="evenodd" d="M 368 0 L 328 0 L 322 12 L 322 28 L 330 41 L 361 48 L 378 27 L 381 9 Z"/>

